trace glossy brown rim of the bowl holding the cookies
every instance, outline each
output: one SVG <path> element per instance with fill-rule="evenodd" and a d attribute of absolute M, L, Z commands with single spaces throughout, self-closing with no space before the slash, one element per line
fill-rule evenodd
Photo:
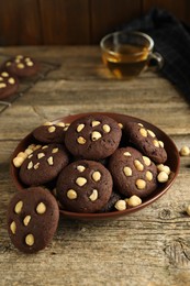
<path fill-rule="evenodd" d="M 127 114 L 115 113 L 115 112 L 85 112 L 85 113 L 68 114 L 68 116 L 65 116 L 65 117 L 59 117 L 55 120 L 51 120 L 51 122 L 57 123 L 57 122 L 63 121 L 65 123 L 70 123 L 75 119 L 82 118 L 82 117 L 90 116 L 90 114 L 92 114 L 92 116 L 98 116 L 98 114 L 108 116 L 108 117 L 111 117 L 115 120 L 119 119 L 119 118 L 122 118 L 122 119 L 125 119 L 125 120 L 135 121 L 135 122 L 146 124 L 146 127 L 150 128 L 154 132 L 156 131 L 156 133 L 159 133 L 159 135 L 161 135 L 161 138 L 165 139 L 165 144 L 167 143 L 167 147 L 169 147 L 169 152 L 172 152 L 172 154 L 175 154 L 175 156 L 176 156 L 175 157 L 175 165 L 169 166 L 171 168 L 170 179 L 167 183 L 159 185 L 153 194 L 150 194 L 149 196 L 144 198 L 143 202 L 141 205 L 136 206 L 136 207 L 127 208 L 125 210 L 120 210 L 120 211 L 113 210 L 113 211 L 109 211 L 109 212 L 93 212 L 93 213 L 71 212 L 71 211 L 64 210 L 59 207 L 60 215 L 64 216 L 64 217 L 70 218 L 70 219 L 82 219 L 82 220 L 114 219 L 114 218 L 118 218 L 118 217 L 121 217 L 121 216 L 126 216 L 128 213 L 136 212 L 136 211 L 147 207 L 148 205 L 152 205 L 154 201 L 156 201 L 158 198 L 160 198 L 171 187 L 171 185 L 175 183 L 177 175 L 179 173 L 180 156 L 179 156 L 178 148 L 177 148 L 176 144 L 174 143 L 174 141 L 163 130 L 160 130 L 159 128 L 157 128 L 156 125 L 152 124 L 148 121 L 145 121 L 145 120 L 136 118 L 136 117 L 131 117 L 131 116 L 127 116 Z M 31 141 L 31 140 L 33 140 L 33 141 Z M 16 147 L 14 148 L 14 151 L 11 155 L 10 176 L 12 178 L 12 182 L 13 182 L 16 190 L 23 189 L 24 186 L 18 178 L 19 168 L 16 168 L 13 165 L 12 161 L 20 151 L 24 150 L 23 146 L 26 147 L 26 146 L 29 146 L 29 144 L 32 144 L 32 143 L 35 143 L 35 140 L 34 140 L 32 132 L 31 132 L 19 142 L 19 144 L 16 145 Z M 172 160 L 174 158 L 170 158 L 170 161 L 172 161 Z M 25 188 L 27 188 L 27 187 L 29 186 L 25 186 Z"/>

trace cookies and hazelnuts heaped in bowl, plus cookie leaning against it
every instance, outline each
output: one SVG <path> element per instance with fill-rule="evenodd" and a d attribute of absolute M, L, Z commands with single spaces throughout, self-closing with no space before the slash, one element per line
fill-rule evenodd
<path fill-rule="evenodd" d="M 93 213 L 138 206 L 168 180 L 164 142 L 136 121 L 121 123 L 94 113 L 37 127 L 31 144 L 13 158 L 25 189 L 10 202 L 12 242 L 29 253 L 45 248 L 57 226 L 58 207 Z M 38 232 L 42 238 L 48 233 L 44 243 L 37 241 Z"/>

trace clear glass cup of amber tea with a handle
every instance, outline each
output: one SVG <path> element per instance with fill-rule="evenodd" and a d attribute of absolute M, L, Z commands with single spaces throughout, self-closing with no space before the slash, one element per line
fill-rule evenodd
<path fill-rule="evenodd" d="M 116 78 L 133 78 L 147 69 L 152 63 L 163 67 L 163 57 L 154 53 L 154 41 L 142 32 L 114 32 L 101 42 L 102 59 Z"/>

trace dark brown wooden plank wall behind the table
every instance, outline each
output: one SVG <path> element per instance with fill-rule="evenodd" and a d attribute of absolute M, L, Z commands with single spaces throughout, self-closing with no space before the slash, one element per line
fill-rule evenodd
<path fill-rule="evenodd" d="M 189 0 L 0 0 L 0 46 L 98 44 L 155 7 L 190 23 Z"/>

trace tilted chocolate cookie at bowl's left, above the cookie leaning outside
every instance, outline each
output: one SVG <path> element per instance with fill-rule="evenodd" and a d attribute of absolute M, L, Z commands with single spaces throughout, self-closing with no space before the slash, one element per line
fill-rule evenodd
<path fill-rule="evenodd" d="M 20 179 L 27 186 L 44 185 L 55 179 L 68 163 L 69 157 L 63 145 L 44 145 L 24 160 L 19 173 Z"/>

